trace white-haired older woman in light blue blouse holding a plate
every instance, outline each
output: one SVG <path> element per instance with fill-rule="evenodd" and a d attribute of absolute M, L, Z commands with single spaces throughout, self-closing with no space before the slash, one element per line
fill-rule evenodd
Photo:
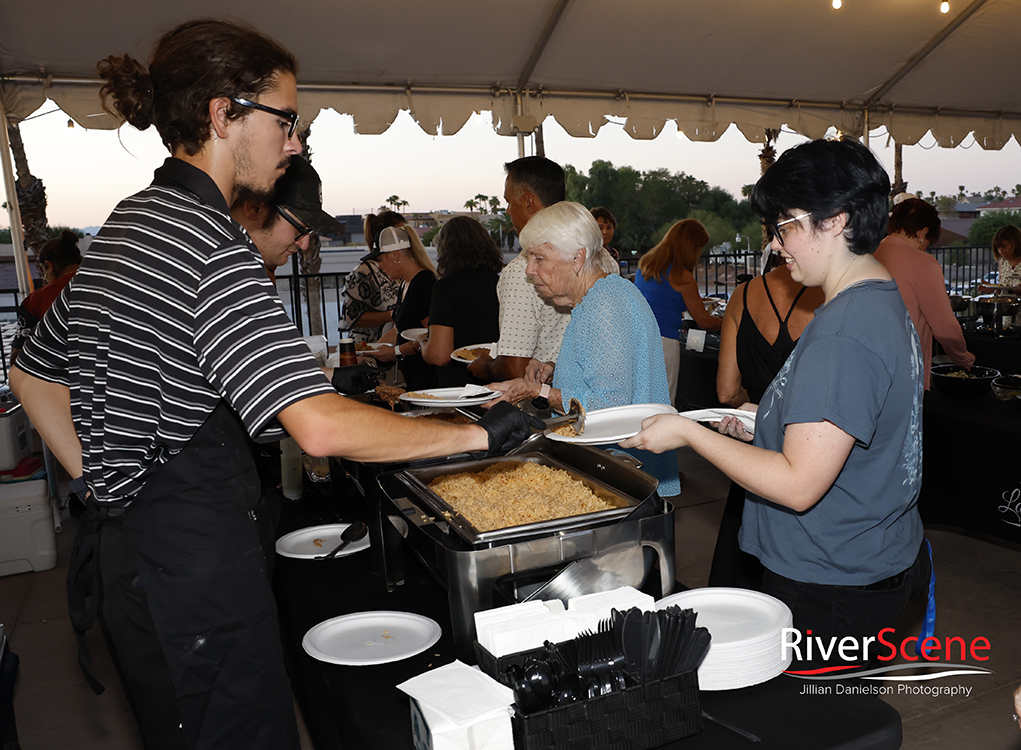
<path fill-rule="evenodd" d="M 599 226 L 579 203 L 542 209 L 521 231 L 526 273 L 548 304 L 571 309 L 556 363 L 532 360 L 525 377 L 492 388 L 516 403 L 545 398 L 565 412 L 572 398 L 588 411 L 627 404 L 669 404 L 660 332 L 648 302 L 635 286 L 600 270 Z M 660 495 L 681 485 L 673 455 L 637 451 L 645 470 L 660 480 Z"/>

